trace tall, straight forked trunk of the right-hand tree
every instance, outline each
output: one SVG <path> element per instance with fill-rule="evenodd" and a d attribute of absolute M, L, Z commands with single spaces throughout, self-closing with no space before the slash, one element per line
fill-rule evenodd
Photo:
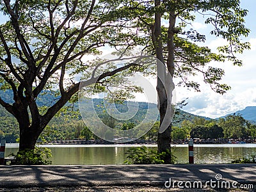
<path fill-rule="evenodd" d="M 161 1 L 156 0 L 155 6 L 160 6 Z M 174 89 L 174 84 L 171 81 L 174 74 L 174 44 L 173 35 L 175 29 L 175 13 L 170 12 L 169 18 L 169 29 L 168 29 L 168 58 L 167 63 L 164 63 L 163 57 L 163 40 L 161 31 L 161 13 L 155 13 L 155 23 L 152 28 L 152 41 L 156 49 L 156 57 L 161 63 L 157 65 L 157 95 L 160 113 L 160 127 L 157 134 L 157 147 L 158 152 L 166 152 L 164 157 L 164 163 L 172 163 L 170 156 L 171 152 L 171 132 L 172 123 L 168 118 L 172 118 L 174 111 L 172 108 L 172 91 Z M 166 72 L 167 68 L 167 72 Z M 166 116 L 167 115 L 167 116 Z M 164 119 L 165 117 L 165 119 Z M 167 118 L 167 119 L 166 119 Z"/>

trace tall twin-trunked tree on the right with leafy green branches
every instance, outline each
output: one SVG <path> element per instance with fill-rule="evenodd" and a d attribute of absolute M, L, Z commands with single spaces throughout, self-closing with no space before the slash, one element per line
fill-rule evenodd
<path fill-rule="evenodd" d="M 241 54 L 244 49 L 250 48 L 249 44 L 242 40 L 242 36 L 247 36 L 250 32 L 244 26 L 247 10 L 240 8 L 239 0 L 127 1 L 127 6 L 131 10 L 130 14 L 136 14 L 138 26 L 148 34 L 146 50 L 154 54 L 166 67 L 165 70 L 162 65 L 157 66 L 160 113 L 157 144 L 159 152 L 164 152 L 170 150 L 172 130 L 170 114 L 173 113 L 173 84 L 168 84 L 172 82 L 170 75 L 181 79 L 178 85 L 183 84 L 200 91 L 200 83 L 189 79 L 189 76 L 201 74 L 202 81 L 209 84 L 214 92 L 227 92 L 230 86 L 220 83 L 224 75 L 223 69 L 213 67 L 209 63 L 231 61 L 234 65 L 242 65 L 242 61 L 238 60 L 235 54 Z M 212 52 L 208 47 L 198 44 L 202 45 L 206 36 L 193 29 L 196 17 L 212 26 L 209 35 L 223 38 L 223 45 L 218 47 L 218 52 Z M 167 80 L 164 79 L 163 82 L 159 77 Z M 168 124 L 163 124 L 165 118 L 169 119 Z M 170 158 L 166 157 L 165 162 L 170 163 Z"/>

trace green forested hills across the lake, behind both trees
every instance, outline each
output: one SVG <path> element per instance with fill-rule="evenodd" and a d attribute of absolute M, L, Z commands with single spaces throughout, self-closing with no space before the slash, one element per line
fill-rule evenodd
<path fill-rule="evenodd" d="M 11 95 L 11 96 L 10 96 Z M 2 93 L 1 97 L 6 102 L 12 103 L 12 93 L 10 91 L 6 91 Z M 56 99 L 50 93 L 46 93 L 45 95 L 40 95 L 38 97 L 37 102 L 38 106 L 49 106 L 52 104 L 52 100 Z M 55 101 L 56 102 L 56 101 Z M 92 100 L 90 100 L 92 103 Z M 82 109 L 86 109 L 85 113 L 89 116 L 88 119 L 90 121 L 94 121 L 95 119 L 90 118 L 90 113 L 95 110 L 99 118 L 104 122 L 104 124 L 109 125 L 110 127 L 115 127 L 115 129 L 131 129 L 135 125 L 143 124 L 144 126 L 148 126 L 145 122 L 142 122 L 147 114 L 147 111 L 151 109 L 156 109 L 156 104 L 147 103 L 147 102 L 131 102 L 129 107 L 135 108 L 138 107 L 138 112 L 136 115 L 132 116 L 129 120 L 115 120 L 111 118 L 108 113 L 104 113 L 103 100 L 102 99 L 93 99 L 93 106 L 90 106 L 90 102 L 83 102 Z M 108 106 L 108 102 L 105 103 Z M 88 106 L 89 105 L 89 106 Z M 125 101 L 123 104 L 115 104 L 116 109 L 120 113 L 126 113 L 127 115 L 131 115 L 128 111 L 127 102 Z M 78 110 L 78 104 L 74 104 L 74 111 Z M 252 111 L 252 108 L 246 108 L 248 111 Z M 156 111 L 156 110 L 155 110 Z M 42 136 L 39 140 L 45 141 L 54 141 L 54 140 L 74 140 L 76 138 L 84 138 L 85 140 L 95 140 L 97 136 L 95 136 L 88 127 L 84 124 L 81 116 L 73 116 L 73 113 L 70 113 L 67 110 L 67 114 L 64 115 L 61 111 L 60 115 L 55 116 L 49 125 L 45 128 L 45 131 L 42 133 Z M 76 113 L 75 113 L 76 114 Z M 77 113 L 79 114 L 79 113 Z M 154 117 L 153 113 L 150 113 Z M 93 116 L 93 115 L 92 115 Z M 150 116 L 151 117 L 151 116 Z M 195 118 L 197 117 L 197 118 Z M 234 120 L 233 120 L 234 117 Z M 189 121 L 184 121 L 189 120 Z M 241 124 L 243 130 L 233 130 L 233 133 L 230 132 L 231 129 L 237 128 L 237 126 L 228 127 L 230 125 L 230 121 L 235 123 L 236 120 L 242 120 Z M 189 134 L 194 138 L 212 138 L 212 134 L 215 135 L 216 130 L 219 131 L 220 137 L 237 137 L 237 133 L 239 136 L 253 136 L 256 137 L 256 129 L 255 125 L 247 125 L 243 118 L 239 116 L 232 116 L 232 118 L 228 117 L 227 120 L 211 120 L 210 118 L 196 116 L 191 113 L 187 113 L 180 109 L 176 110 L 175 118 L 173 124 L 173 138 L 176 139 L 184 139 L 188 137 Z M 189 123 L 190 122 L 190 123 Z M 239 122 L 239 121 L 238 121 Z M 152 129 L 143 136 L 143 139 L 152 139 L 156 140 L 157 131 L 159 127 L 159 122 L 157 122 Z M 189 128 L 188 128 L 189 127 Z M 239 127 L 239 126 L 238 126 Z M 240 129 L 239 128 L 239 129 Z M 237 128 L 238 129 L 238 128 Z M 215 132 L 214 132 L 215 130 Z M 229 131 L 229 132 L 228 132 Z M 211 133 L 211 135 L 210 135 Z M 107 134 L 107 132 L 106 132 Z M 19 138 L 19 128 L 17 121 L 15 118 L 10 115 L 5 109 L 0 107 L 0 139 L 5 139 L 7 143 L 15 143 L 16 139 Z"/>

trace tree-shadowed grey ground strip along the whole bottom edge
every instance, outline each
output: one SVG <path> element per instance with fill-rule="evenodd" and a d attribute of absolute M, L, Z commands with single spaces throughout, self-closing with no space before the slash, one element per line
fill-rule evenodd
<path fill-rule="evenodd" d="M 256 184 L 255 164 L 0 166 L 0 170 L 0 191 L 243 191 L 245 187 L 253 191 Z M 230 186 L 218 188 L 218 182 Z"/>

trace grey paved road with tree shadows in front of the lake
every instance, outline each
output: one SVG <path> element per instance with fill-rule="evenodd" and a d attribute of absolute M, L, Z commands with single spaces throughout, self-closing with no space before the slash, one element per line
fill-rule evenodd
<path fill-rule="evenodd" d="M 167 180 L 256 184 L 256 164 L 0 166 L 0 188 L 35 186 L 164 186 Z M 168 184 L 168 183 L 167 183 Z"/>

